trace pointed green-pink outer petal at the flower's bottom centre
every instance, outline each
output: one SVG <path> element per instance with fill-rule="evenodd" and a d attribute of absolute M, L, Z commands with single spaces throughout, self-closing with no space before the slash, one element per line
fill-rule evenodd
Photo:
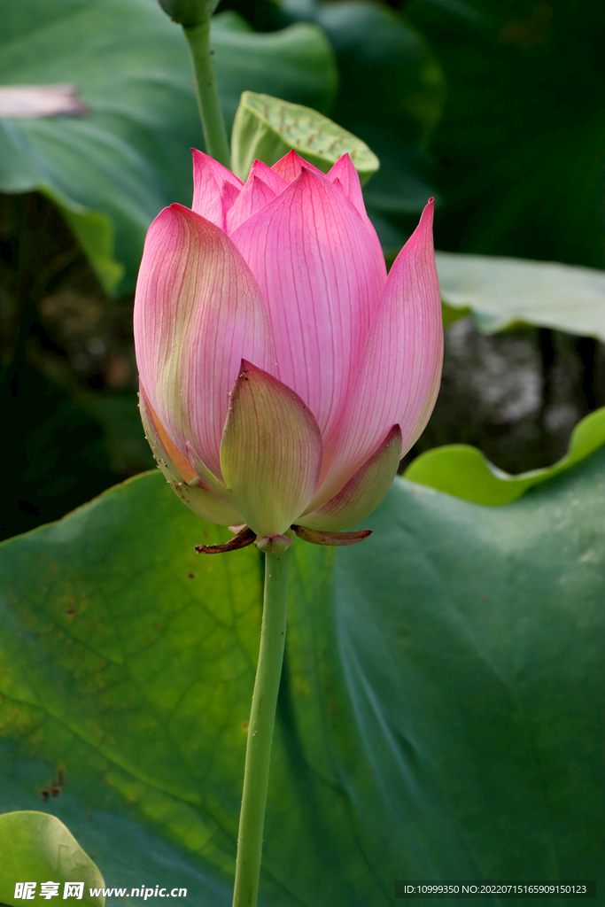
<path fill-rule="evenodd" d="M 250 529 L 283 535 L 308 506 L 321 471 L 315 416 L 298 394 L 242 360 L 220 445 L 220 469 Z"/>

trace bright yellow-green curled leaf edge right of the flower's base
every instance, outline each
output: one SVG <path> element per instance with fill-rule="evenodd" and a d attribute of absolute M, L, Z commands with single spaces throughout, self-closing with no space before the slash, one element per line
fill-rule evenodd
<path fill-rule="evenodd" d="M 444 444 L 417 456 L 405 470 L 412 482 L 428 485 L 478 504 L 508 504 L 532 485 L 548 482 L 605 444 L 605 407 L 590 413 L 573 430 L 570 448 L 558 463 L 509 475 L 470 444 Z"/>

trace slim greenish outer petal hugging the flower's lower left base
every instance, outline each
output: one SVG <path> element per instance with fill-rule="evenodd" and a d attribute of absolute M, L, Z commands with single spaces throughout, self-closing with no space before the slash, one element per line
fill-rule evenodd
<path fill-rule="evenodd" d="M 147 395 L 141 385 L 140 405 L 141 422 L 153 456 L 166 481 L 181 501 L 198 516 L 210 522 L 229 526 L 241 522 L 239 513 L 227 502 L 204 487 L 195 487 L 190 482 L 200 481 L 186 456 L 173 444 L 157 415 L 153 412 Z M 225 490 L 227 491 L 227 490 Z"/>

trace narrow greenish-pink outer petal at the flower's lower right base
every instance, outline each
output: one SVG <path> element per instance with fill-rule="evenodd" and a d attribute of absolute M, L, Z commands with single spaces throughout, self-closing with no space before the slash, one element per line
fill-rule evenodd
<path fill-rule="evenodd" d="M 297 521 L 307 529 L 336 532 L 355 526 L 376 510 L 395 479 L 401 458 L 401 429 L 394 425 L 383 443 L 340 491 Z"/>

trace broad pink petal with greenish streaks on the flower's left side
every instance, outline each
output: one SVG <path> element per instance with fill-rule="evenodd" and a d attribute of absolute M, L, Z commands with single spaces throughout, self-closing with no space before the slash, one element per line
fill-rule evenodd
<path fill-rule="evenodd" d="M 151 224 L 134 304 L 142 385 L 172 442 L 220 476 L 229 391 L 248 356 L 275 362 L 259 286 L 226 233 L 171 205 Z M 232 522 L 232 521 L 231 521 Z"/>

